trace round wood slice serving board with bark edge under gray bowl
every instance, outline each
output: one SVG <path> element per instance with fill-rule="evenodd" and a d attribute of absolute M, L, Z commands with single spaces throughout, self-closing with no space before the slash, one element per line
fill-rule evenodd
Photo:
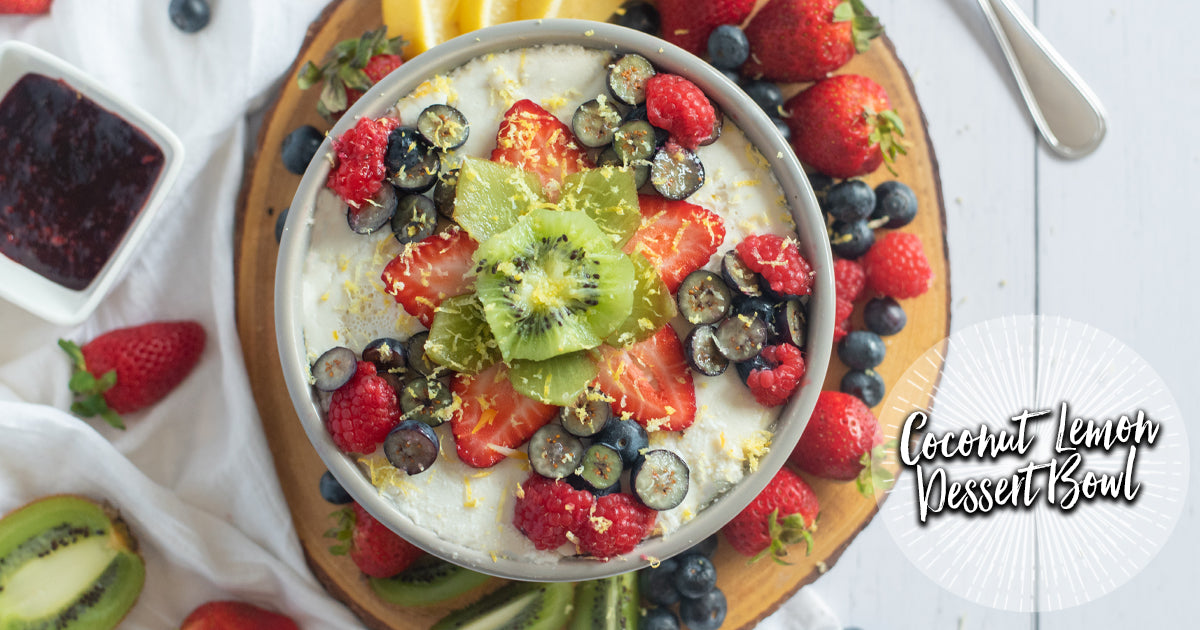
<path fill-rule="evenodd" d="M 280 484 L 313 572 L 366 625 L 389 630 L 425 629 L 449 610 L 478 598 L 480 593 L 436 607 L 401 608 L 374 596 L 364 576 L 347 557 L 329 553 L 330 541 L 323 534 L 332 524 L 332 508 L 322 500 L 317 490 L 317 481 L 325 468 L 292 408 L 275 344 L 275 223 L 278 214 L 292 203 L 300 182 L 299 175 L 283 168 L 280 144 L 288 132 L 301 125 L 328 128 L 317 115 L 317 90 L 300 91 L 294 77 L 305 60 L 319 60 L 340 40 L 358 37 L 380 24 L 379 4 L 376 0 L 330 4 L 310 26 L 304 47 L 289 70 L 275 104 L 268 112 L 258 138 L 257 155 L 248 164 L 239 199 L 235 244 L 238 331 Z M 887 359 L 877 371 L 892 384 L 913 360 L 949 332 L 949 269 L 941 182 L 924 115 L 892 42 L 886 37 L 877 40 L 869 53 L 858 55 L 840 72 L 865 74 L 883 85 L 907 127 L 908 155 L 900 158 L 896 166 L 898 179 L 908 184 L 917 193 L 920 211 L 917 220 L 905 229 L 920 235 L 935 274 L 935 283 L 929 293 L 904 302 L 908 326 L 901 334 L 887 338 Z M 788 94 L 796 89 L 793 86 Z M 892 175 L 881 169 L 868 178 L 868 181 L 876 185 L 889 178 Z M 856 328 L 862 328 L 860 316 L 856 314 Z M 834 359 L 826 389 L 836 389 L 844 373 L 845 367 Z M 809 556 L 793 553 L 793 564 L 790 566 L 770 562 L 748 565 L 745 558 L 737 556 L 727 545 L 720 546 L 716 554 L 719 586 L 730 602 L 724 628 L 755 626 L 802 586 L 812 582 L 832 566 L 875 515 L 875 502 L 860 496 L 853 482 L 838 484 L 820 479 L 810 479 L 810 482 L 820 497 L 821 517 L 815 534 L 816 545 Z M 485 588 L 494 588 L 500 583 L 499 580 L 492 582 Z"/>

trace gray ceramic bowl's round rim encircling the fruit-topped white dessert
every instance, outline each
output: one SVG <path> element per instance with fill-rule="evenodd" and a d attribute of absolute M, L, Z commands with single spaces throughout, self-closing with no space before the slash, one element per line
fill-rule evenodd
<path fill-rule="evenodd" d="M 824 380 L 833 346 L 834 282 L 826 224 L 812 196 L 812 188 L 796 156 L 767 115 L 737 85 L 708 64 L 662 40 L 638 31 L 594 22 L 547 19 L 503 24 L 457 37 L 406 62 L 371 89 L 334 126 L 330 137 L 340 136 L 360 116 L 383 115 L 401 96 L 410 92 L 427 77 L 445 73 L 487 53 L 553 43 L 638 53 L 653 61 L 662 72 L 688 77 L 725 112 L 727 120 L 745 132 L 770 163 L 782 187 L 796 221 L 800 250 L 816 269 L 816 282 L 815 293 L 809 302 L 808 380 L 784 409 L 775 428 L 770 452 L 762 460 L 758 470 L 748 475 L 732 491 L 718 498 L 671 535 L 648 539 L 632 552 L 608 562 L 586 558 L 563 558 L 551 564 L 506 558 L 493 560 L 487 553 L 444 540 L 414 524 L 407 515 L 380 498 L 354 461 L 334 445 L 325 430 L 313 390 L 306 379 L 307 353 L 301 329 L 301 270 L 311 241 L 317 193 L 324 186 L 330 169 L 330 161 L 326 158 L 331 151 L 329 139 L 318 150 L 292 202 L 275 277 L 275 328 L 288 391 L 308 439 L 312 440 L 325 466 L 367 511 L 430 553 L 478 571 L 515 580 L 576 581 L 640 569 L 649 564 L 648 558 L 668 558 L 684 551 L 720 529 L 762 491 L 775 472 L 784 466 L 800 438 Z"/>

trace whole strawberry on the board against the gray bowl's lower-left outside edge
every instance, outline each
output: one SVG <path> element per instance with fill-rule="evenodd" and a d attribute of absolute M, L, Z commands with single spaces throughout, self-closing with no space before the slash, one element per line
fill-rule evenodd
<path fill-rule="evenodd" d="M 380 523 L 358 503 L 336 512 L 337 527 L 325 532 L 338 540 L 334 556 L 349 554 L 355 566 L 371 577 L 392 577 L 408 569 L 425 552 Z"/>

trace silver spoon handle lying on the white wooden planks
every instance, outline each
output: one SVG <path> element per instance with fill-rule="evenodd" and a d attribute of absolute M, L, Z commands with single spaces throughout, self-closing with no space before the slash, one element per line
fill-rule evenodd
<path fill-rule="evenodd" d="M 979 0 L 1033 122 L 1054 152 L 1084 157 L 1104 139 L 1096 94 L 1012 0 Z"/>

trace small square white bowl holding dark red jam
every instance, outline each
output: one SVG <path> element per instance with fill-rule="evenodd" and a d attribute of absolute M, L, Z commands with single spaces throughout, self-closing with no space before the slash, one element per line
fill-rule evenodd
<path fill-rule="evenodd" d="M 73 326 L 82 323 L 120 280 L 146 235 L 167 192 L 184 164 L 184 144 L 162 122 L 118 97 L 79 68 L 22 42 L 0 43 L 0 98 L 28 73 L 62 79 L 100 107 L 142 130 L 163 155 L 162 170 L 145 204 L 125 232 L 100 274 L 82 290 L 68 289 L 41 274 L 0 254 L 0 298 L 54 324 Z"/>

